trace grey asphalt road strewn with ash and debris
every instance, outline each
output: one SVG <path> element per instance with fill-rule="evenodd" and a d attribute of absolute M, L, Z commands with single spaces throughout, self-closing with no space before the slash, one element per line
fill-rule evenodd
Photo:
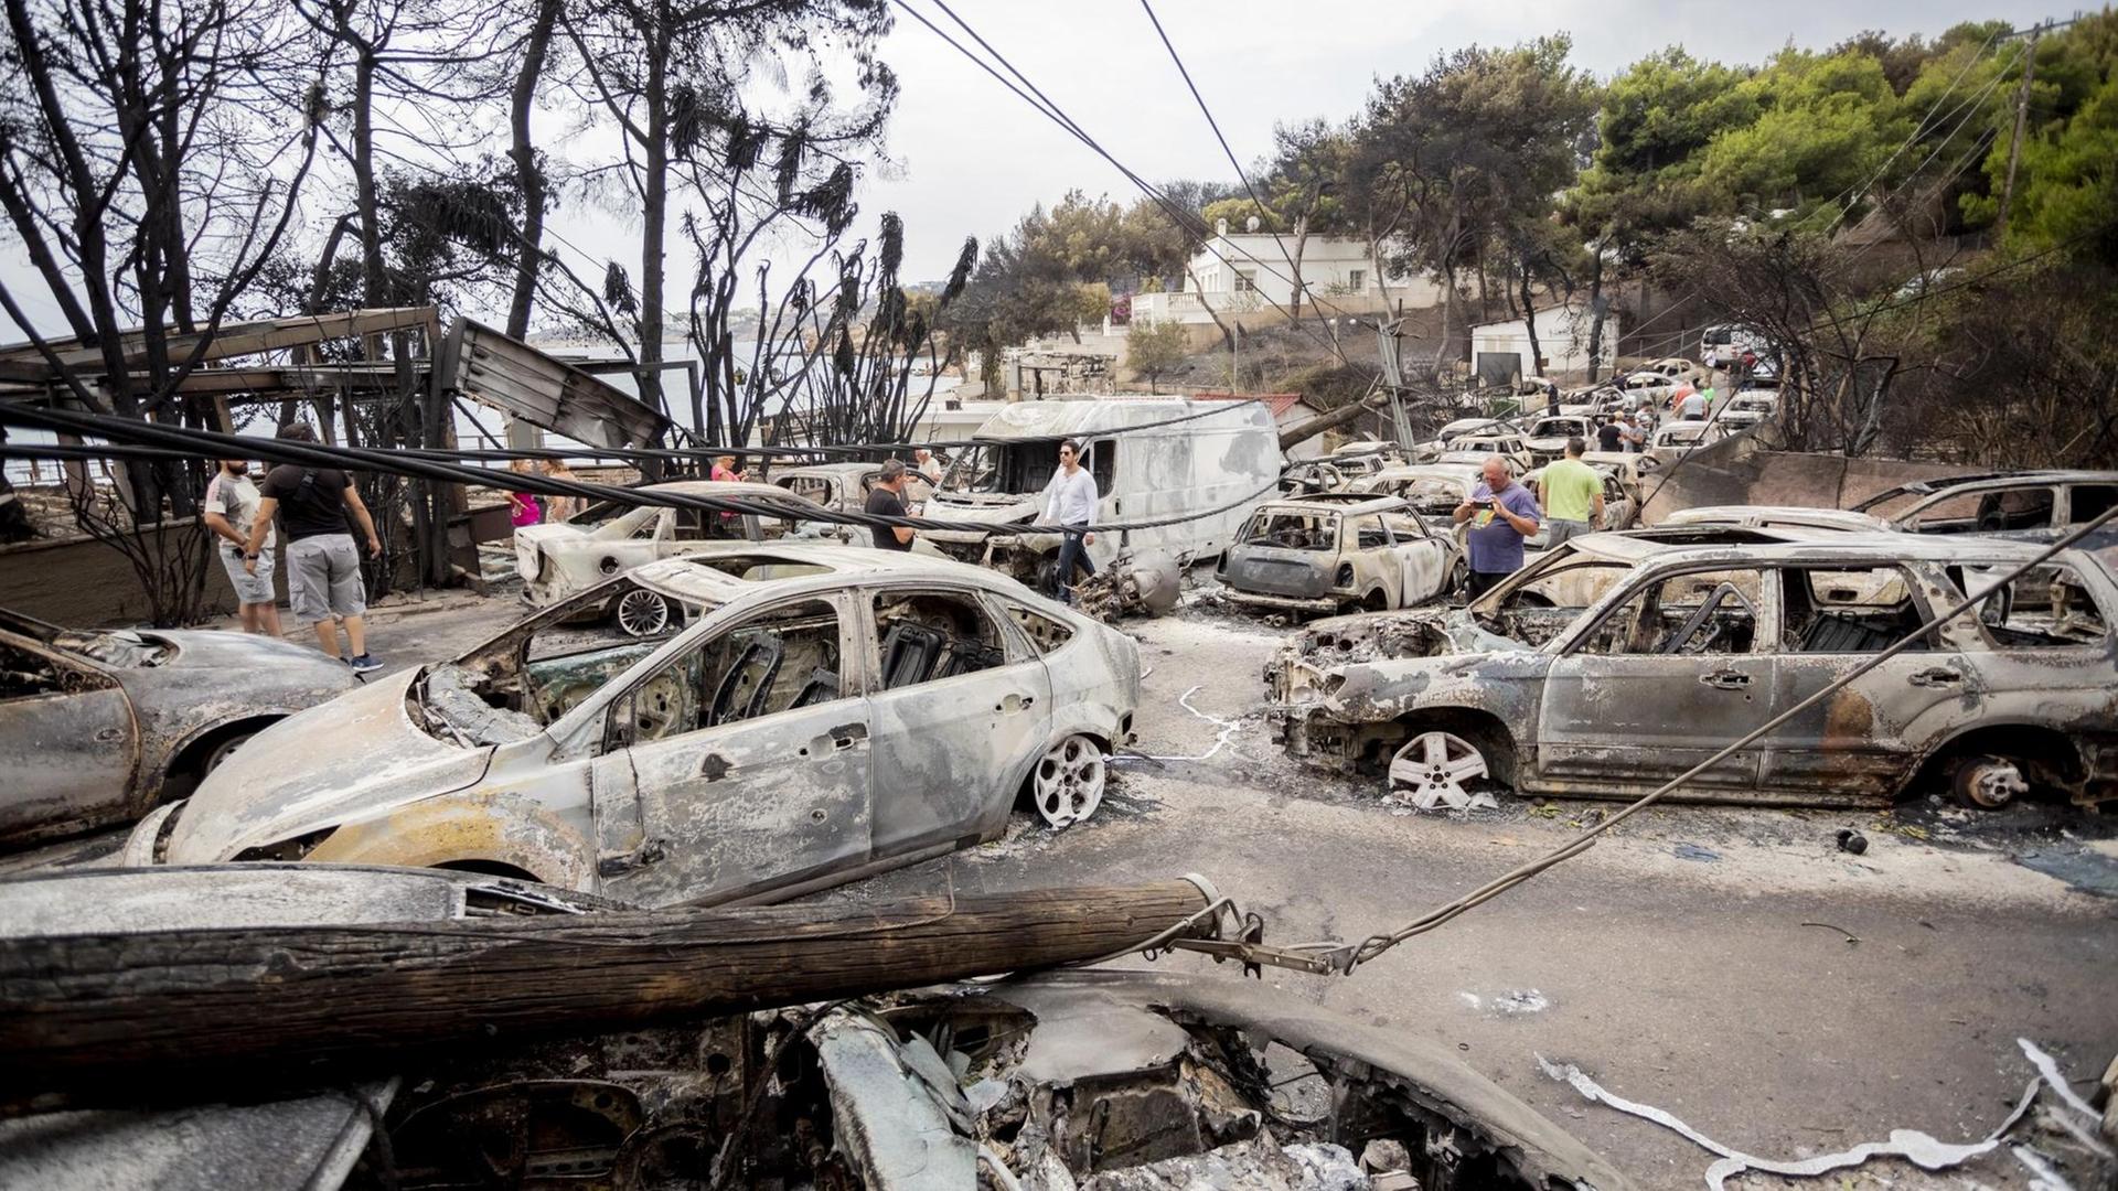
<path fill-rule="evenodd" d="M 371 642 L 396 668 L 474 644 L 513 615 L 445 596 L 377 610 Z M 1557 846 L 1591 810 L 1504 799 L 1470 816 L 1394 814 L 1381 790 L 1307 771 L 1264 740 L 1256 676 L 1281 629 L 1197 610 L 1127 629 L 1148 665 L 1139 750 L 1167 761 L 1123 761 L 1103 810 L 1070 831 L 1017 816 L 1002 841 L 824 896 L 1197 871 L 1262 913 L 1269 941 L 1358 941 Z M 2012 858 L 2059 850 L 2088 882 L 2105 879 L 2118 871 L 2105 822 L 2052 810 L 1980 820 L 1929 803 L 1656 807 L 1351 977 L 1267 968 L 1264 979 L 1455 1045 L 1644 1187 L 1699 1187 L 1709 1155 L 1582 1102 L 1542 1077 L 1536 1055 L 1580 1064 L 1762 1157 L 1891 1130 L 1974 1140 L 2031 1079 L 2018 1036 L 2082 1081 L 2118 1053 L 2118 901 Z M 1838 852 L 1841 826 L 1866 831 L 1870 850 Z M 1849 1178 L 2029 1183 L 2006 1151 L 1951 1174 L 1881 1161 Z"/>

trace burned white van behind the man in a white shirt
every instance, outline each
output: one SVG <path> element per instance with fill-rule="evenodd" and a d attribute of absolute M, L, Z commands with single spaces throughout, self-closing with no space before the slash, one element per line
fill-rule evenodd
<path fill-rule="evenodd" d="M 1173 422 L 1182 417 L 1182 422 Z M 1097 534 L 1089 557 L 1165 555 L 1178 566 L 1220 555 L 1260 500 L 1275 496 L 1284 458 L 1279 426 L 1256 401 L 1167 396 L 1053 396 L 1002 407 L 979 426 L 976 447 L 951 451 L 951 466 L 928 500 L 936 521 L 995 526 L 1044 519 L 1044 485 L 1059 466 L 1059 443 L 1074 439 L 1101 498 L 1097 521 L 1148 521 L 1216 509 L 1152 530 Z M 976 534 L 921 530 L 964 562 L 979 562 L 1044 587 L 1057 564 L 1059 534 Z"/>

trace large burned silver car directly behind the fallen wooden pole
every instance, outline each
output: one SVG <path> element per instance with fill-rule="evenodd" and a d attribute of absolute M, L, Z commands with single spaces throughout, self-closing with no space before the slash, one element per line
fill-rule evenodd
<path fill-rule="evenodd" d="M 1019 795 L 1087 818 L 1137 701 L 1131 638 L 987 570 L 729 543 L 261 733 L 125 860 L 792 896 L 998 837 Z"/>

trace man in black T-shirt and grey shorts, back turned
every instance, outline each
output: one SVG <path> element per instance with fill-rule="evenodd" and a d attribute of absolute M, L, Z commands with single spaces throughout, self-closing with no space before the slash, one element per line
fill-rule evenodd
<path fill-rule="evenodd" d="M 282 426 L 280 437 L 313 443 L 316 430 L 294 422 Z M 280 464 L 265 473 L 256 523 L 250 526 L 250 540 L 244 547 L 244 568 L 252 574 L 275 513 L 280 528 L 286 530 L 286 593 L 294 619 L 316 627 L 316 644 L 324 646 L 324 653 L 345 659 L 354 670 L 381 670 L 383 663 L 369 655 L 366 623 L 360 619 L 369 610 L 360 553 L 345 526 L 345 515 L 352 513 L 369 536 L 369 557 L 383 553 L 375 519 L 360 502 L 360 490 L 339 468 Z M 339 653 L 335 619 L 345 623 L 345 644 L 352 646 L 352 655 Z"/>

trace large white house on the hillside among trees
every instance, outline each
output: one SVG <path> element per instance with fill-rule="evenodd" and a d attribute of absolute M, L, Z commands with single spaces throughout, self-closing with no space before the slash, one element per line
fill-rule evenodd
<path fill-rule="evenodd" d="M 1237 233 L 1228 220 L 1190 259 L 1197 290 L 1133 295 L 1133 322 L 1211 322 L 1211 314 L 1248 314 L 1286 309 L 1294 295 L 1292 235 Z M 1300 275 L 1311 314 L 1370 314 L 1385 309 L 1383 286 L 1375 275 L 1375 259 L 1364 239 L 1347 235 L 1311 235 L 1300 242 Z M 1392 278 L 1392 301 L 1404 305 L 1438 305 L 1440 286 L 1428 278 Z"/>

